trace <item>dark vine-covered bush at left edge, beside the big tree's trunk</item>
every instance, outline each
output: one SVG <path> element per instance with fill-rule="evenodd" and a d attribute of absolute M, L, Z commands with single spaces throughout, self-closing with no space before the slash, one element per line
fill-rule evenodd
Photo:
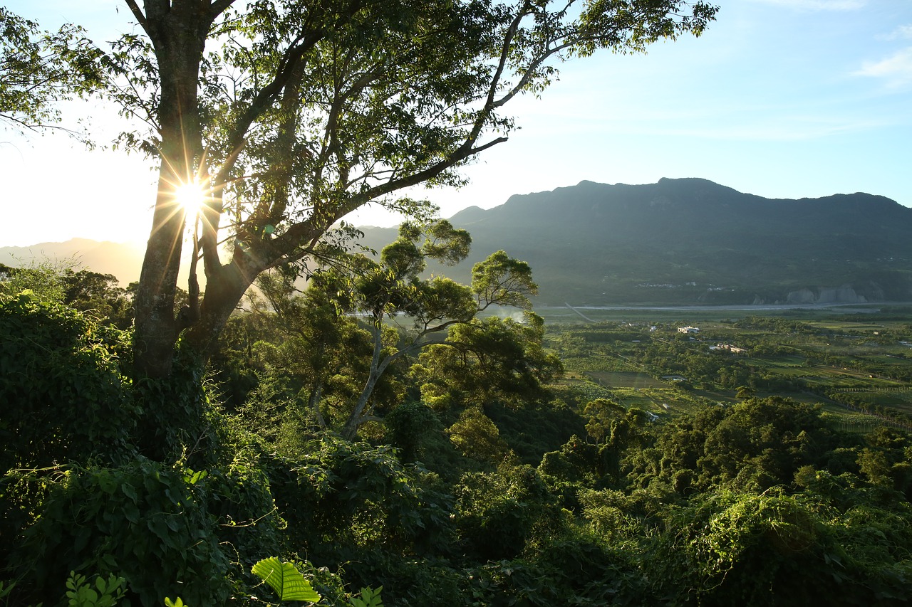
<path fill-rule="evenodd" d="M 116 329 L 35 293 L 0 295 L 0 470 L 123 455 L 139 415 L 129 356 Z"/>

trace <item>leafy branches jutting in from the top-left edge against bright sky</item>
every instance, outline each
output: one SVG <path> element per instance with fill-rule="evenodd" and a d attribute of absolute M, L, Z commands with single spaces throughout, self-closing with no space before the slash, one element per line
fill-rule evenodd
<path fill-rule="evenodd" d="M 0 123 L 19 132 L 53 127 L 57 101 L 105 85 L 105 58 L 81 27 L 42 32 L 0 6 Z"/>

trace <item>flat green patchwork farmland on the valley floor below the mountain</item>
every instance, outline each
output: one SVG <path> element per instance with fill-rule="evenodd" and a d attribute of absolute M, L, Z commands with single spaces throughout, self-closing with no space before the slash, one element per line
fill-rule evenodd
<path fill-rule="evenodd" d="M 876 306 L 850 311 L 546 308 L 539 314 L 548 323 L 548 347 L 578 388 L 627 407 L 664 416 L 746 396 L 787 396 L 824 406 L 846 427 L 912 427 L 912 353 L 901 344 L 912 343 L 912 314 Z M 680 334 L 679 326 L 700 332 Z M 662 379 L 668 376 L 682 381 Z"/>

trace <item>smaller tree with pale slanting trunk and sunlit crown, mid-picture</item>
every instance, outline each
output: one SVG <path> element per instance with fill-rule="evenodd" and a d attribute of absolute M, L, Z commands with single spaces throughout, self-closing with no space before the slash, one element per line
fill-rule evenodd
<path fill-rule="evenodd" d="M 328 312 L 329 301 L 335 302 L 340 313 L 358 314 L 368 324 L 372 353 L 365 365 L 367 377 L 341 429 L 342 436 L 352 439 L 359 426 L 380 419 L 374 412 L 380 378 L 390 365 L 429 345 L 432 335 L 469 323 L 491 306 L 532 307 L 528 295 L 534 294 L 537 286 L 529 264 L 514 260 L 503 251 L 475 264 L 471 287 L 443 276 L 421 277 L 429 258 L 448 265 L 460 262 L 469 253 L 471 242 L 467 231 L 454 229 L 446 220 L 425 225 L 407 221 L 399 227 L 399 239 L 380 252 L 378 261 L 361 253 L 349 254 L 344 261 L 337 259 L 331 268 L 311 273 L 310 287 L 303 296 L 290 296 L 294 285 L 288 278 L 294 278 L 294 274 L 265 274 L 259 281 L 279 320 L 285 319 L 287 326 L 296 327 L 298 335 L 286 340 L 280 346 L 283 349 L 299 341 L 297 337 L 304 337 L 304 348 L 309 345 L 315 356 L 339 355 L 342 343 L 334 335 L 341 334 L 342 327 L 353 321 L 307 310 L 313 307 L 315 313 L 317 308 Z M 282 275 L 284 282 L 278 279 Z M 285 284 L 284 290 L 280 283 Z M 411 325 L 396 331 L 390 324 L 399 324 L 400 318 L 408 318 Z M 297 360 L 304 357 L 295 356 Z M 318 367 L 325 366 L 315 364 L 308 375 L 317 381 L 326 375 L 326 370 L 321 372 Z M 311 397 L 318 399 L 319 392 L 312 388 Z M 311 408 L 320 419 L 316 405 L 312 403 Z"/>

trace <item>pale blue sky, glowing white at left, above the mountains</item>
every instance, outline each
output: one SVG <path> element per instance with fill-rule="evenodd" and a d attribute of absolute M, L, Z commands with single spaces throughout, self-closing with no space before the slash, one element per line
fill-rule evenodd
<path fill-rule="evenodd" d="M 560 66 L 540 98 L 515 99 L 520 127 L 482 153 L 461 190 L 420 190 L 440 215 L 581 180 L 699 177 L 767 198 L 865 191 L 912 207 L 912 2 L 716 0 L 699 38 Z M 119 0 L 13 0 L 47 29 L 64 22 L 110 40 L 131 32 Z M 70 103 L 109 142 L 116 112 Z M 0 130 L 0 246 L 73 237 L 145 242 L 155 173 L 147 160 L 88 151 L 58 134 Z M 393 225 L 361 211 L 360 225 Z"/>

